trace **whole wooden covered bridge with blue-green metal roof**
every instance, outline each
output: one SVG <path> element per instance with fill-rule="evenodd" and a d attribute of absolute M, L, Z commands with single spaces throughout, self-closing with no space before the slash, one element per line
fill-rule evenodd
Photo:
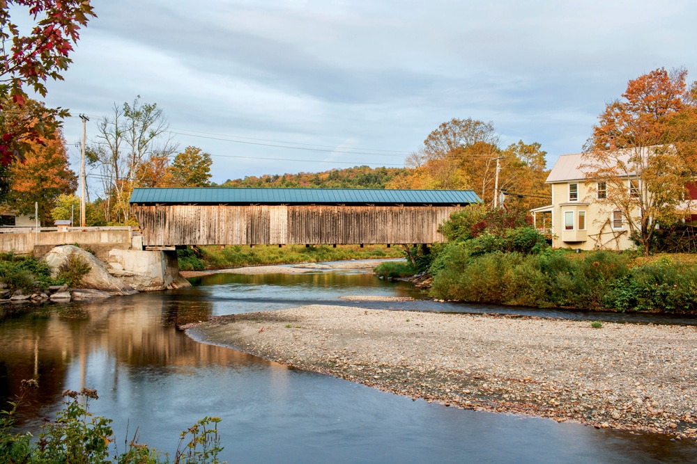
<path fill-rule="evenodd" d="M 438 226 L 480 202 L 471 190 L 135 189 L 143 245 L 443 241 Z"/>

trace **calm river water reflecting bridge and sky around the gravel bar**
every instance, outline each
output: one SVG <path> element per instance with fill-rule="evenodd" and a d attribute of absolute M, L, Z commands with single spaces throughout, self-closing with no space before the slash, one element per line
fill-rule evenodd
<path fill-rule="evenodd" d="M 204 415 L 222 417 L 230 463 L 651 463 L 696 462 L 694 442 L 579 424 L 445 408 L 199 344 L 178 326 L 213 315 L 303 304 L 366 305 L 342 295 L 413 296 L 401 282 L 357 271 L 217 274 L 179 291 L 47 305 L 0 322 L 0 399 L 38 378 L 22 429 L 36 431 L 60 392 L 98 390 L 91 409 L 141 442 L 176 449 L 178 433 Z M 397 307 L 396 303 L 371 303 Z M 401 303 L 399 303 L 401 305 Z M 434 310 L 428 301 L 411 309 Z M 441 306 L 442 307 L 442 306 Z"/>

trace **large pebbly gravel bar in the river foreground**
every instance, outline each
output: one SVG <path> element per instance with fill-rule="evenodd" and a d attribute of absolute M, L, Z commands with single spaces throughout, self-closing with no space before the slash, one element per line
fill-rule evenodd
<path fill-rule="evenodd" d="M 697 437 L 697 330 L 308 305 L 187 330 L 413 399 Z"/>

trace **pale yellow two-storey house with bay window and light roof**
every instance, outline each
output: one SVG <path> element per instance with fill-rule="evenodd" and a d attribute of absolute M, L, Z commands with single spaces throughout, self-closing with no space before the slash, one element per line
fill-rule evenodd
<path fill-rule="evenodd" d="M 559 157 L 545 181 L 552 187 L 552 204 L 530 210 L 535 225 L 550 225 L 554 248 L 635 248 L 622 212 L 596 201 L 606 197 L 606 185 L 586 179 L 579 168 L 581 163 L 581 153 Z M 631 192 L 638 194 L 638 181 L 631 182 Z"/>

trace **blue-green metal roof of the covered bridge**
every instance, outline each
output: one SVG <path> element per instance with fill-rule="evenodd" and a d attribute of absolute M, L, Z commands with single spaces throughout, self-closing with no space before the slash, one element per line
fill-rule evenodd
<path fill-rule="evenodd" d="M 472 190 L 378 189 L 133 189 L 138 205 L 467 205 L 482 200 Z"/>

